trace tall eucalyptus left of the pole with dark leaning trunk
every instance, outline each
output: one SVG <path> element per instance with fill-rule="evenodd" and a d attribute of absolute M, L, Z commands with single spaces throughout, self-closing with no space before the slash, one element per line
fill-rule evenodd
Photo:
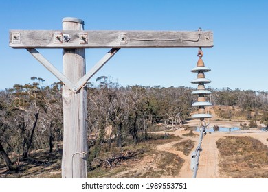
<path fill-rule="evenodd" d="M 46 92 L 40 86 L 44 80 L 37 77 L 32 77 L 31 80 L 34 81 L 32 84 L 15 84 L 8 90 L 10 119 L 13 119 L 13 126 L 19 131 L 23 158 L 27 158 L 32 147 L 41 112 L 47 111 L 48 108 Z"/>

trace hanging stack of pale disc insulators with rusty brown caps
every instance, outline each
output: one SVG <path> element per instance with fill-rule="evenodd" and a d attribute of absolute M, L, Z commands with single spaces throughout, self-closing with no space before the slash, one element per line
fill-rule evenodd
<path fill-rule="evenodd" d="M 210 83 L 211 81 L 205 78 L 205 72 L 210 71 L 210 68 L 205 67 L 203 60 L 201 59 L 203 56 L 203 52 L 199 49 L 199 60 L 197 62 L 197 67 L 194 67 L 191 71 L 193 73 L 197 73 L 197 79 L 192 80 L 192 84 L 198 84 L 197 90 L 193 91 L 192 94 L 198 95 L 197 102 L 194 102 L 192 106 L 198 106 L 198 113 L 192 115 L 192 118 L 199 118 L 203 121 L 204 118 L 211 118 L 212 115 L 205 112 L 206 106 L 212 106 L 212 104 L 208 101 L 205 101 L 205 95 L 211 94 L 210 91 L 205 89 L 205 84 Z"/>

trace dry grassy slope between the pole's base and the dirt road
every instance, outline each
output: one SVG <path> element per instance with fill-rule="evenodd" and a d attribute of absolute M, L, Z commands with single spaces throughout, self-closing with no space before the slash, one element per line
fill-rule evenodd
<path fill-rule="evenodd" d="M 168 152 L 159 152 L 155 146 L 135 158 L 124 160 L 113 168 L 98 167 L 88 172 L 88 178 L 172 178 L 178 176 L 184 163 L 182 158 Z M 147 147 L 148 147 L 147 145 Z"/>

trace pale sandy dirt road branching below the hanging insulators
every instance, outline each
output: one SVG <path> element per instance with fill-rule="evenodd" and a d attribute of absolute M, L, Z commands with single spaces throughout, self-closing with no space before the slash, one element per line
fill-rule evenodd
<path fill-rule="evenodd" d="M 188 131 L 184 131 L 183 129 L 176 130 L 172 132 L 176 136 L 181 136 L 183 139 L 180 141 L 173 141 L 171 143 L 166 143 L 164 145 L 157 146 L 157 150 L 166 151 L 173 154 L 177 154 L 179 157 L 185 160 L 183 167 L 181 167 L 181 171 L 178 178 L 192 178 L 192 171 L 190 169 L 190 155 L 185 156 L 182 152 L 178 152 L 172 146 L 175 143 L 179 143 L 186 139 L 191 139 L 195 141 L 194 149 L 196 149 L 199 141 L 199 136 L 196 137 L 186 137 L 182 134 Z M 195 134 L 199 134 L 199 132 L 194 132 Z M 199 158 L 199 170 L 197 171 L 197 178 L 221 178 L 221 174 L 219 173 L 219 150 L 216 146 L 216 141 L 225 136 L 252 136 L 255 139 L 260 140 L 262 143 L 268 146 L 268 132 L 263 132 L 260 130 L 240 130 L 236 132 L 212 132 L 211 134 L 207 134 L 203 136 L 203 142 L 201 147 L 203 151 L 200 153 Z M 193 150 L 194 150 L 193 149 Z"/>

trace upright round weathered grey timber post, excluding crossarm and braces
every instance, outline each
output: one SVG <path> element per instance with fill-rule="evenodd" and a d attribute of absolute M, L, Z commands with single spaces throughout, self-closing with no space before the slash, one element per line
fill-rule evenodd
<path fill-rule="evenodd" d="M 83 30 L 84 21 L 63 19 L 63 30 Z M 66 37 L 68 38 L 68 37 Z M 78 82 L 85 75 L 85 49 L 63 49 L 63 75 Z M 63 178 L 87 178 L 87 88 L 63 86 Z"/>

